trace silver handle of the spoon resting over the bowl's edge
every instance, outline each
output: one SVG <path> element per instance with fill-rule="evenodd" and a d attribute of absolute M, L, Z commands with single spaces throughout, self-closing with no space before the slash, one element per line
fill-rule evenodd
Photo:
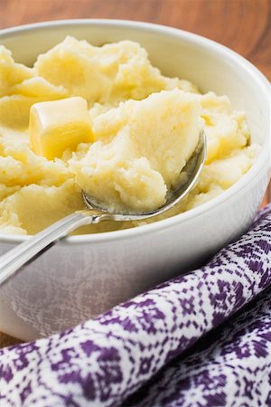
<path fill-rule="evenodd" d="M 49 249 L 57 241 L 66 237 L 68 233 L 90 223 L 98 223 L 108 219 L 108 215 L 97 210 L 85 210 L 72 213 L 61 221 L 51 224 L 42 232 L 35 234 L 27 241 L 14 247 L 0 257 L 0 286 L 27 262 L 39 257 L 43 251 Z"/>

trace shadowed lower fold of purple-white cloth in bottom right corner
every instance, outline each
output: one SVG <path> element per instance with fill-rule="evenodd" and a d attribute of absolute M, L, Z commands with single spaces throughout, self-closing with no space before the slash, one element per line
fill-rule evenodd
<path fill-rule="evenodd" d="M 271 406 L 271 289 L 122 404 L 150 406 Z"/>

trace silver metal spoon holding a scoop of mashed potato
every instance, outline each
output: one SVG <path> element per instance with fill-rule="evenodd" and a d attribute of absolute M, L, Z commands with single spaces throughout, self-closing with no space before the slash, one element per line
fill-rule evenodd
<path fill-rule="evenodd" d="M 82 192 L 85 210 L 77 211 L 61 219 L 61 221 L 51 224 L 42 232 L 37 233 L 32 238 L 14 247 L 0 257 L 0 285 L 10 279 L 16 271 L 21 269 L 26 263 L 36 259 L 42 252 L 49 249 L 57 241 L 66 237 L 79 226 L 101 221 L 142 221 L 158 214 L 164 213 L 178 204 L 196 184 L 201 174 L 202 166 L 206 157 L 206 137 L 201 131 L 198 145 L 191 158 L 182 168 L 181 182 L 167 196 L 166 203 L 160 208 L 146 213 L 109 213 L 106 204 L 98 203 L 88 194 Z"/>

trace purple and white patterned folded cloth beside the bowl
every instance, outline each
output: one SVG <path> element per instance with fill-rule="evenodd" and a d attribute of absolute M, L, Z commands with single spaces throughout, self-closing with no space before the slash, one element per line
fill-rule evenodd
<path fill-rule="evenodd" d="M 125 405 L 126 398 L 163 366 L 166 372 L 165 364 L 174 356 L 181 355 L 269 285 L 271 205 L 258 214 L 256 222 L 239 241 L 220 251 L 200 270 L 168 281 L 62 334 L 2 349 L 0 405 Z M 263 323 L 259 329 L 270 342 L 266 319 L 259 318 Z M 253 321 L 257 324 L 257 315 Z M 251 333 L 255 334 L 253 330 Z M 260 337 L 259 333 L 257 337 Z M 237 339 L 232 336 L 229 347 L 234 347 L 234 340 Z M 250 365 L 243 362 L 246 355 L 253 352 L 254 345 L 246 324 L 244 337 L 240 336 L 240 340 L 244 345 L 232 353 L 238 363 L 218 357 L 210 358 L 210 364 L 205 364 L 204 355 L 201 360 L 189 359 L 191 369 L 194 367 L 194 372 L 199 373 L 199 380 L 190 382 L 192 370 L 188 370 L 187 376 L 182 371 L 182 380 L 186 383 L 180 401 L 177 399 L 168 405 L 266 405 L 267 394 L 260 387 L 259 403 L 247 402 L 244 394 L 253 393 L 249 389 L 264 378 L 266 367 L 263 366 L 271 370 L 270 344 L 263 346 L 264 351 L 256 344 L 258 351 L 251 357 Z M 231 374 L 229 371 L 224 374 L 223 369 L 228 365 Z M 204 368 L 206 375 L 202 373 Z M 214 374 L 212 380 L 211 372 L 221 372 L 221 377 L 216 379 Z M 271 388 L 271 383 L 268 385 Z M 203 393 L 202 397 L 196 393 L 198 386 L 209 386 L 210 394 L 223 387 L 221 403 L 206 403 Z M 244 386 L 248 390 L 241 392 Z M 235 392 L 233 396 L 231 392 Z M 155 402 L 139 405 L 156 406 Z M 157 405 L 166 404 L 158 402 Z"/>

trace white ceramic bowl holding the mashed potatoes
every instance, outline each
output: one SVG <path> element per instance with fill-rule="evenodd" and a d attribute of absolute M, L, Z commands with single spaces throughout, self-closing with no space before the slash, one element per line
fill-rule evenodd
<path fill-rule="evenodd" d="M 16 61 L 32 63 L 67 34 L 96 45 L 141 43 L 164 74 L 229 95 L 263 148 L 247 175 L 198 208 L 135 229 L 70 237 L 28 265 L 0 289 L 0 331 L 22 339 L 71 327 L 201 263 L 248 228 L 268 182 L 270 88 L 251 63 L 193 33 L 115 20 L 25 25 L 0 32 L 0 43 Z M 25 239 L 1 235 L 0 252 Z"/>

